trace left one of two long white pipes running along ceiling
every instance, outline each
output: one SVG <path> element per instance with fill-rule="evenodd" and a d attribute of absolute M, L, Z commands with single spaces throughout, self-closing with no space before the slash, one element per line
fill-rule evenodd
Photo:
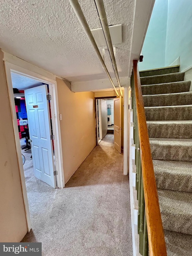
<path fill-rule="evenodd" d="M 88 23 L 87 23 L 87 21 L 85 19 L 85 16 L 84 16 L 84 14 L 82 12 L 82 9 L 81 9 L 81 6 L 79 5 L 78 0 L 69 0 L 69 2 L 71 4 L 71 6 L 72 6 L 72 8 L 73 8 L 77 18 L 79 19 L 79 22 L 81 23 L 81 25 L 82 25 L 82 27 L 83 27 L 83 29 L 84 29 L 84 31 L 85 31 L 89 41 L 91 42 L 92 47 L 94 48 L 94 50 L 95 50 L 95 52 L 96 52 L 96 54 L 98 56 L 98 59 L 100 60 L 100 62 L 102 64 L 102 66 L 103 66 L 107 76 L 109 77 L 110 82 L 112 83 L 113 88 L 114 88 L 117 96 L 119 97 L 119 93 L 118 93 L 118 91 L 117 91 L 117 89 L 116 89 L 116 87 L 115 87 L 115 85 L 113 83 L 113 80 L 112 80 L 112 78 L 111 78 L 111 76 L 109 74 L 109 71 L 108 71 L 108 69 L 107 69 L 107 67 L 105 65 L 105 62 L 104 62 L 104 60 L 103 60 L 103 58 L 101 56 L 101 53 L 100 53 L 100 51 L 98 49 L 98 46 L 97 46 L 97 44 L 95 42 L 95 39 L 94 39 L 94 37 L 93 37 L 93 35 L 91 33 L 91 30 L 90 30 L 90 28 L 88 26 Z M 120 90 L 120 92 L 121 92 L 121 95 L 122 95 L 122 91 L 121 90 Z"/>

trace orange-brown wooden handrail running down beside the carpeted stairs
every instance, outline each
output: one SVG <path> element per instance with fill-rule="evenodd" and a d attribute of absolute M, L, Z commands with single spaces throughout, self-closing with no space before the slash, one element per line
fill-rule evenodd
<path fill-rule="evenodd" d="M 137 60 L 133 61 L 133 71 L 149 254 L 150 256 L 167 256 Z"/>

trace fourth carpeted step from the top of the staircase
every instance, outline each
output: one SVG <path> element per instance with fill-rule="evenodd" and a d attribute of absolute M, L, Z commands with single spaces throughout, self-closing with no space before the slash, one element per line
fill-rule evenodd
<path fill-rule="evenodd" d="M 143 95 L 145 107 L 192 105 L 192 92 Z"/>

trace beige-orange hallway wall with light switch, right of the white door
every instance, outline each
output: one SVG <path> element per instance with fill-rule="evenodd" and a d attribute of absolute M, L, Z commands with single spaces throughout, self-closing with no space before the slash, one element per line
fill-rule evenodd
<path fill-rule="evenodd" d="M 58 87 L 65 183 L 96 145 L 95 103 L 92 92 L 71 92 L 63 80 Z"/>

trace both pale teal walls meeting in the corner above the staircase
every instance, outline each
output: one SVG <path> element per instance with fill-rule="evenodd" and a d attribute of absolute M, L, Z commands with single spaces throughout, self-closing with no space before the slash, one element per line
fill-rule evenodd
<path fill-rule="evenodd" d="M 180 71 L 192 65 L 191 0 L 156 0 L 143 44 L 139 70 L 171 65 L 180 56 Z"/>

